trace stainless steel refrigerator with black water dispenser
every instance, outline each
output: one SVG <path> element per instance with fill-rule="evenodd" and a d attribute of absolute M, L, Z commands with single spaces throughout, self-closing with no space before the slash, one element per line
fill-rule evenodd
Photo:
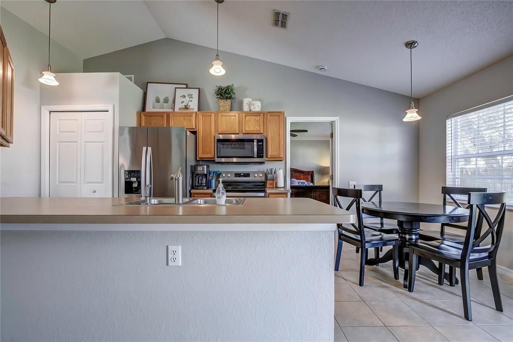
<path fill-rule="evenodd" d="M 196 137 L 184 127 L 120 127 L 118 197 L 174 197 L 174 181 L 182 167 L 183 193 L 190 190 L 191 165 L 196 162 Z"/>

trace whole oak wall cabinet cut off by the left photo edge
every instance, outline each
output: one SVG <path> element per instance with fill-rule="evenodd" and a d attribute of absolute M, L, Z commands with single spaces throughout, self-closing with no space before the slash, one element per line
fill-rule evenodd
<path fill-rule="evenodd" d="M 0 93 L 2 94 L 2 102 L 0 102 L 0 146 L 9 147 L 13 143 L 14 130 L 14 64 L 1 26 L 0 41 L 0 72 L 2 73 L 0 82 Z"/>

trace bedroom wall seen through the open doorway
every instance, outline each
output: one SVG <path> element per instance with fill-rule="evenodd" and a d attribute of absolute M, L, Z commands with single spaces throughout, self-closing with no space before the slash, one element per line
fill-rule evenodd
<path fill-rule="evenodd" d="M 291 140 L 290 167 L 313 170 L 315 185 L 327 185 L 324 167 L 329 166 L 329 144 L 329 140 Z"/>

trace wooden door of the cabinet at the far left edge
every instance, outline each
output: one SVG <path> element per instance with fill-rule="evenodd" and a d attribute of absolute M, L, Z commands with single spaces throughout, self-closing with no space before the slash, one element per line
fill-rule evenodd
<path fill-rule="evenodd" d="M 3 55 L 3 85 L 2 85 L 2 128 L 3 138 L 10 144 L 13 142 L 13 115 L 14 115 L 14 64 L 12 63 L 9 48 L 4 48 Z"/>

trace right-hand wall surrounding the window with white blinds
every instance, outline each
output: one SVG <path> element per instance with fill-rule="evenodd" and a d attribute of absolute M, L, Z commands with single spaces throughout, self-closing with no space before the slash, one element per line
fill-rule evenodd
<path fill-rule="evenodd" d="M 442 201 L 445 185 L 445 121 L 448 115 L 513 94 L 513 56 L 473 73 L 420 100 L 419 199 Z M 435 227 L 431 227 L 435 228 Z M 506 233 L 499 264 L 513 269 L 513 212 L 506 213 Z"/>

